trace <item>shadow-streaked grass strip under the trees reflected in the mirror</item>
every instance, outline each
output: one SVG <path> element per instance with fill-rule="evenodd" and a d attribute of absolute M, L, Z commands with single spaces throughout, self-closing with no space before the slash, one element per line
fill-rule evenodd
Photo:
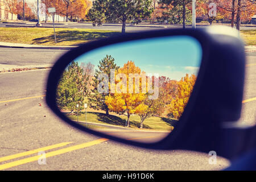
<path fill-rule="evenodd" d="M 77 121 L 77 115 L 67 115 L 68 118 L 72 119 L 73 121 Z M 93 123 L 101 123 L 106 125 L 115 125 L 115 126 L 125 126 L 126 116 L 125 115 L 109 115 L 107 116 L 104 113 L 96 113 L 96 112 L 87 112 L 86 114 L 87 122 Z M 82 112 L 78 117 L 79 122 L 85 122 L 85 113 Z M 176 124 L 175 119 L 169 118 L 160 118 L 160 117 L 151 117 L 147 118 L 143 122 L 143 129 L 151 129 L 151 130 L 173 130 Z M 139 129 L 141 126 L 141 119 L 138 115 L 131 115 L 130 116 L 130 127 L 132 129 Z"/>

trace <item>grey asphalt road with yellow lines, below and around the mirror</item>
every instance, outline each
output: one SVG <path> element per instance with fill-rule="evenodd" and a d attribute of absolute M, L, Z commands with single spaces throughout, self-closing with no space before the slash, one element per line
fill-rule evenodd
<path fill-rule="evenodd" d="M 40 52 L 38 57 L 53 61 L 44 59 Z M 256 97 L 256 53 L 247 53 L 247 57 L 250 66 L 246 67 L 245 100 Z M 218 157 L 217 164 L 211 165 L 208 154 L 200 152 L 145 150 L 67 126 L 44 101 L 48 72 L 0 73 L 0 169 L 148 171 L 218 170 L 229 166 L 228 160 Z M 241 122 L 255 122 L 255 104 L 243 104 Z M 48 152 L 43 164 L 38 161 L 38 151 Z"/>

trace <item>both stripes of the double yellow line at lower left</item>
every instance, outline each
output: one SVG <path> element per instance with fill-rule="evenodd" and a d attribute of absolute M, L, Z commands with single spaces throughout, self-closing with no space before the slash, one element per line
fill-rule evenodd
<path fill-rule="evenodd" d="M 76 146 L 71 146 L 71 147 L 67 147 L 67 148 L 61 148 L 60 150 L 47 152 L 45 157 L 49 158 L 51 156 L 65 154 L 67 152 L 79 150 L 79 149 L 85 148 L 85 147 L 90 147 L 90 146 L 93 146 L 95 144 L 99 144 L 101 142 L 105 142 L 107 140 L 108 139 L 101 138 L 101 139 L 93 140 L 92 142 L 86 142 L 86 143 L 82 143 L 82 144 L 77 144 Z M 72 142 L 63 142 L 63 143 L 59 143 L 59 144 L 53 144 L 53 145 L 47 146 L 47 147 L 38 148 L 38 149 L 35 149 L 35 150 L 31 150 L 31 151 L 22 152 L 22 153 L 19 153 L 19 154 L 4 156 L 4 157 L 0 158 L 0 162 L 4 162 L 6 160 L 20 158 L 22 156 L 36 154 L 36 153 L 41 152 L 41 151 L 47 151 L 47 150 L 51 150 L 51 149 L 54 149 L 54 148 L 67 146 L 68 144 L 71 144 L 71 143 Z M 34 162 L 36 160 L 39 160 L 40 158 L 41 158 L 41 155 L 37 155 L 37 156 L 32 156 L 30 158 L 20 159 L 20 160 L 14 161 L 14 162 L 2 164 L 2 165 L 0 165 L 0 170 L 11 168 L 11 167 L 15 167 L 15 166 L 19 166 L 19 165 L 30 163 L 30 162 Z"/>

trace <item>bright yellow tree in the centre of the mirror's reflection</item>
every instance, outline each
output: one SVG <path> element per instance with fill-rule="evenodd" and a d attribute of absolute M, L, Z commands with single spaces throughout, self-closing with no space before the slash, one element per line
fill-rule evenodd
<path fill-rule="evenodd" d="M 121 74 L 122 77 L 116 78 L 115 80 L 115 93 L 109 94 L 106 97 L 105 103 L 109 110 L 117 113 L 127 114 L 127 127 L 130 126 L 130 115 L 135 113 L 143 113 L 147 110 L 147 106 L 143 103 L 146 97 L 145 93 L 129 92 L 129 74 L 141 74 L 141 69 L 136 67 L 133 61 L 128 61 L 127 64 L 119 68 L 116 75 Z M 131 85 L 133 89 L 136 84 Z M 119 90 L 119 91 L 117 91 Z"/>

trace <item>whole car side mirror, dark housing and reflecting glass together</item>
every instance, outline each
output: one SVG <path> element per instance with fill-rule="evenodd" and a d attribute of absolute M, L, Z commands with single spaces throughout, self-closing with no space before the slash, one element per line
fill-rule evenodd
<path fill-rule="evenodd" d="M 245 53 L 237 32 L 225 31 L 139 32 L 79 46 L 49 73 L 47 104 L 86 133 L 209 152 L 221 123 L 241 112 Z"/>

